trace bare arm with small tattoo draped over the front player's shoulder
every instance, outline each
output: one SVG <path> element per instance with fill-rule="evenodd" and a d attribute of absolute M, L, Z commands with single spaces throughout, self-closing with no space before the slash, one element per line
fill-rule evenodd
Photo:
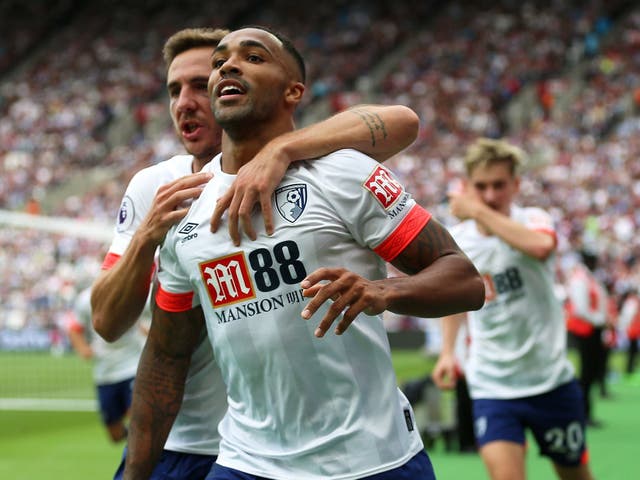
<path fill-rule="evenodd" d="M 319 123 L 281 135 L 243 166 L 235 182 L 216 204 L 211 230 L 217 231 L 228 209 L 229 233 L 240 244 L 240 225 L 249 238 L 256 233 L 251 212 L 260 205 L 266 231 L 273 233 L 271 194 L 284 177 L 291 162 L 327 155 L 342 148 L 353 148 L 384 162 L 411 145 L 418 134 L 419 119 L 402 105 L 358 105 Z"/>

